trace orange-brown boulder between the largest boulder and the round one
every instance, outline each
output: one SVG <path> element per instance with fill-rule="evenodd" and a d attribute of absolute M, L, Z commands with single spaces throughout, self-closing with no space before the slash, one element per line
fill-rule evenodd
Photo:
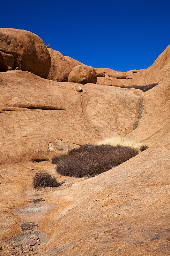
<path fill-rule="evenodd" d="M 48 79 L 58 82 L 68 82 L 68 76 L 71 72 L 70 65 L 61 54 L 51 48 L 47 48 L 51 57 L 51 68 L 48 74 Z"/>

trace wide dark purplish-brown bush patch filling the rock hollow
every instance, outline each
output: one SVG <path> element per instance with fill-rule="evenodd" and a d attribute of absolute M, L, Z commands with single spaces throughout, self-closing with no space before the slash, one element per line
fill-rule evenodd
<path fill-rule="evenodd" d="M 137 149 L 130 147 L 87 144 L 53 157 L 52 163 L 61 175 L 84 177 L 106 172 L 137 154 Z"/>

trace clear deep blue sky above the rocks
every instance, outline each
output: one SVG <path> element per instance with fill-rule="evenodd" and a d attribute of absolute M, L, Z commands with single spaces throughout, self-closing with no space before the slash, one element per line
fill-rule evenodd
<path fill-rule="evenodd" d="M 92 67 L 148 68 L 170 44 L 170 1 L 3 1 L 1 28 L 29 30 Z"/>

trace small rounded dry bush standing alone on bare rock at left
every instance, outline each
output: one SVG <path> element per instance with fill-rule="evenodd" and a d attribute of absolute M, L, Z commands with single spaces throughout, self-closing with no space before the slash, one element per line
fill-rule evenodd
<path fill-rule="evenodd" d="M 55 177 L 46 171 L 36 172 L 33 176 L 33 187 L 58 187 Z"/>

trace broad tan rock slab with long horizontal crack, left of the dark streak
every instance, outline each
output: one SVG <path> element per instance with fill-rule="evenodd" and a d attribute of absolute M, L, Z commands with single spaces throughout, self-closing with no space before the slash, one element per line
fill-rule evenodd
<path fill-rule="evenodd" d="M 55 139 L 95 142 L 128 129 L 136 118 L 139 96 L 128 89 L 81 84 L 83 92 L 76 92 L 80 84 L 24 71 L 1 72 L 0 83 L 1 163 L 48 159 Z"/>

